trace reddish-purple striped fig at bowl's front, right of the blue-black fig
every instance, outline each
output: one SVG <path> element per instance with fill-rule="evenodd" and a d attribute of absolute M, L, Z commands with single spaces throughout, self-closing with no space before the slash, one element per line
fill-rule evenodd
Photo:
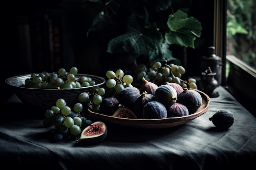
<path fill-rule="evenodd" d="M 189 110 L 185 105 L 180 103 L 175 103 L 166 108 L 167 117 L 180 117 L 189 115 Z"/>

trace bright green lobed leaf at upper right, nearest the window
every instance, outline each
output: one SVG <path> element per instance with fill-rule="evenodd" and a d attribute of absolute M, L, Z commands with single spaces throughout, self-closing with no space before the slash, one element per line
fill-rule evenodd
<path fill-rule="evenodd" d="M 169 15 L 167 25 L 170 29 L 165 34 L 168 44 L 195 48 L 195 38 L 200 37 L 202 31 L 201 23 L 196 18 L 188 18 L 186 13 L 177 10 L 173 15 Z"/>

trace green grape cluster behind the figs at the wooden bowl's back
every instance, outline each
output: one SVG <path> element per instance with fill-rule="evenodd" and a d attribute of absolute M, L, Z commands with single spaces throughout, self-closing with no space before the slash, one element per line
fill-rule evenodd
<path fill-rule="evenodd" d="M 182 88 L 198 89 L 196 79 L 189 78 L 188 80 L 182 80 L 182 75 L 186 73 L 183 66 L 176 64 L 167 64 L 167 61 L 153 62 L 149 68 L 145 64 L 138 65 L 137 79 L 145 77 L 148 81 L 156 81 L 158 84 L 164 84 L 166 82 L 174 82 L 180 84 Z"/>

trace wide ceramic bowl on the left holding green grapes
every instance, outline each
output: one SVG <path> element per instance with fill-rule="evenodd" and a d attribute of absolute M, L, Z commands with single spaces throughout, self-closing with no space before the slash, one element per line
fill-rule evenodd
<path fill-rule="evenodd" d="M 27 88 L 25 87 L 25 79 L 30 78 L 31 74 L 18 75 L 9 77 L 5 80 L 5 84 L 17 95 L 24 103 L 40 109 L 50 109 L 56 106 L 56 101 L 63 98 L 68 106 L 74 106 L 78 102 L 79 94 L 90 92 L 94 86 L 102 86 L 106 80 L 103 77 L 88 74 L 77 74 L 76 77 L 91 77 L 96 82 L 95 85 L 79 88 L 61 88 L 61 89 L 43 89 L 43 88 Z"/>

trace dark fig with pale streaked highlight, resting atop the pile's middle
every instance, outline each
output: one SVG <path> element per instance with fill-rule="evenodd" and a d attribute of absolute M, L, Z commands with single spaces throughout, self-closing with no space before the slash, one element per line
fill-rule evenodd
<path fill-rule="evenodd" d="M 161 85 L 155 91 L 155 99 L 166 107 L 171 106 L 177 100 L 177 91 L 172 86 Z"/>

